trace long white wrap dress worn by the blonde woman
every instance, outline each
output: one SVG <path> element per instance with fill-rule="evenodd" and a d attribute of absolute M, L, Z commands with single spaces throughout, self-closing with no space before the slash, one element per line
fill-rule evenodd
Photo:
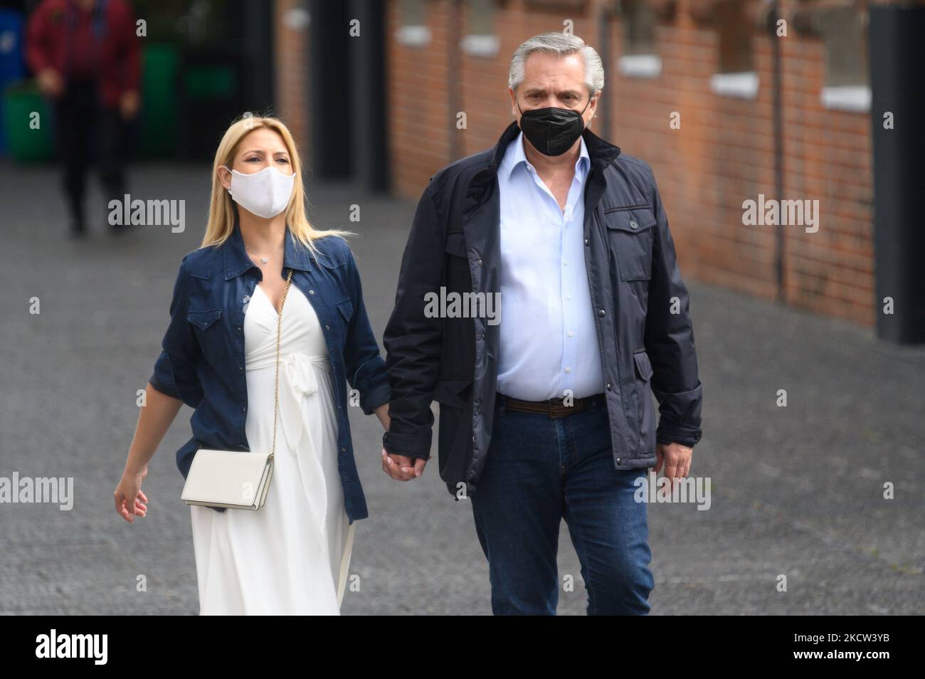
<path fill-rule="evenodd" d="M 277 318 L 255 286 L 244 314 L 252 451 L 273 445 Z M 338 474 L 327 346 L 311 302 L 291 284 L 280 337 L 277 450 L 264 506 L 216 512 L 190 505 L 200 615 L 340 612 L 356 525 Z"/>

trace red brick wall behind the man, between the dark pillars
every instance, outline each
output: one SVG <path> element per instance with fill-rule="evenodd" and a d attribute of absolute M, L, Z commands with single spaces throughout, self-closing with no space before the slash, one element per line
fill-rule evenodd
<path fill-rule="evenodd" d="M 697 278 L 763 298 L 777 295 L 776 232 L 784 233 L 787 302 L 872 325 L 872 177 L 870 115 L 828 110 L 820 103 L 825 62 L 818 37 L 788 27 L 782 49 L 784 199 L 819 200 L 820 228 L 746 227 L 742 203 L 759 193 L 775 197 L 772 129 L 771 38 L 753 33 L 759 93 L 754 100 L 714 94 L 717 31 L 698 24 L 680 0 L 659 21 L 654 80 L 623 77 L 621 19 L 607 20 L 611 59 L 605 63 L 604 97 L 611 129 L 593 130 L 655 170 L 685 278 Z M 439 167 L 493 145 L 513 119 L 507 93 L 510 58 L 536 33 L 557 31 L 563 19 L 598 47 L 599 15 L 611 3 L 592 0 L 579 12 L 537 9 L 524 0 L 499 3 L 495 58 L 460 54 L 467 3 L 426 0 L 431 42 L 399 43 L 401 3 L 388 8 L 388 99 L 393 190 L 418 198 Z M 783 4 L 783 16 L 788 6 Z M 746 29 L 744 29 L 746 30 Z M 458 60 L 459 68 L 450 64 Z M 455 104 L 454 104 L 455 102 Z M 467 129 L 457 130 L 464 111 Z M 669 117 L 681 114 L 681 129 Z"/>

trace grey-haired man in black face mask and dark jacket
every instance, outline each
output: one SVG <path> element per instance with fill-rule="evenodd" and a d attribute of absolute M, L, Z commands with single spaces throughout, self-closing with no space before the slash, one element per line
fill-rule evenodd
<path fill-rule="evenodd" d="M 687 290 L 652 170 L 587 129 L 603 84 L 578 37 L 517 49 L 516 121 L 431 178 L 385 333 L 383 468 L 421 475 L 438 401 L 440 476 L 472 501 L 496 614 L 556 612 L 563 518 L 588 614 L 648 613 L 634 482 L 648 467 L 686 476 L 701 436 Z M 499 319 L 488 303 L 438 317 L 426 301 L 441 288 L 499 293 Z"/>

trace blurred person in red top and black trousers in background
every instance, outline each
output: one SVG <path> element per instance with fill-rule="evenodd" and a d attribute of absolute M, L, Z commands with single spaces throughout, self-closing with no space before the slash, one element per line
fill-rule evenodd
<path fill-rule="evenodd" d="M 139 106 L 140 44 L 124 0 L 43 0 L 26 28 L 26 61 L 52 100 L 70 234 L 86 233 L 86 169 L 95 160 L 106 204 L 125 194 L 125 127 Z M 110 231 L 125 227 L 110 225 Z"/>

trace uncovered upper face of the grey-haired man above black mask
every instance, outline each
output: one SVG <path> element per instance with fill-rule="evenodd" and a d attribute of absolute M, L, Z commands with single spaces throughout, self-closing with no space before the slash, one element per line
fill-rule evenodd
<path fill-rule="evenodd" d="M 585 64 L 580 55 L 556 56 L 545 52 L 534 52 L 524 62 L 524 81 L 511 94 L 512 113 L 520 125 L 521 111 L 534 108 L 568 108 L 581 113 L 585 126 L 594 117 L 598 107 L 598 98 L 588 103 L 587 85 L 585 84 Z M 586 107 L 587 106 L 587 107 Z M 585 112 L 582 113 L 582 109 Z"/>

